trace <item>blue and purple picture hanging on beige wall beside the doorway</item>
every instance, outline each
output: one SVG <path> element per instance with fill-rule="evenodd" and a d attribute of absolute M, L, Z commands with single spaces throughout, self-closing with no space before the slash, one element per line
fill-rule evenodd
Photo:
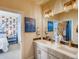
<path fill-rule="evenodd" d="M 25 17 L 25 32 L 35 32 L 35 31 L 36 31 L 35 19 Z"/>

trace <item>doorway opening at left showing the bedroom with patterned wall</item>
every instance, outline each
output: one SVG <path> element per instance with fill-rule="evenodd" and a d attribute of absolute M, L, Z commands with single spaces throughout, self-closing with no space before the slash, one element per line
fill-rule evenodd
<path fill-rule="evenodd" d="M 0 58 L 21 59 L 21 14 L 0 10 Z"/>

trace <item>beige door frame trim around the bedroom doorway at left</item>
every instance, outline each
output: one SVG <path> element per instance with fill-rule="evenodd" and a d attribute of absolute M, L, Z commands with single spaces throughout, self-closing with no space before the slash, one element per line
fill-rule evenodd
<path fill-rule="evenodd" d="M 23 58 L 23 40 L 22 40 L 22 24 L 23 24 L 23 16 L 24 16 L 24 12 L 22 11 L 18 11 L 18 10 L 14 10 L 14 9 L 10 9 L 10 8 L 6 8 L 6 7 L 0 7 L 1 11 L 6 11 L 6 12 L 12 12 L 12 13 L 16 13 L 16 14 L 20 14 L 21 15 L 21 44 L 20 44 L 20 59 Z"/>

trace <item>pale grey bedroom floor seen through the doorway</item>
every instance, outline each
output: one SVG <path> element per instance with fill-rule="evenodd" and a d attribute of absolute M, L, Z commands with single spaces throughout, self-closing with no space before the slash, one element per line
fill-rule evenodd
<path fill-rule="evenodd" d="M 0 59 L 20 59 L 20 47 L 19 45 L 9 46 L 9 51 L 6 53 L 0 53 Z"/>

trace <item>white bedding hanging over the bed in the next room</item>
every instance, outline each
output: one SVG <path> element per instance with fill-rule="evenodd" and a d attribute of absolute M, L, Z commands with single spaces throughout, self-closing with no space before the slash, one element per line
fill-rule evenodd
<path fill-rule="evenodd" d="M 7 38 L 0 38 L 0 49 L 3 50 L 3 52 L 7 52 L 8 51 L 8 41 Z"/>

